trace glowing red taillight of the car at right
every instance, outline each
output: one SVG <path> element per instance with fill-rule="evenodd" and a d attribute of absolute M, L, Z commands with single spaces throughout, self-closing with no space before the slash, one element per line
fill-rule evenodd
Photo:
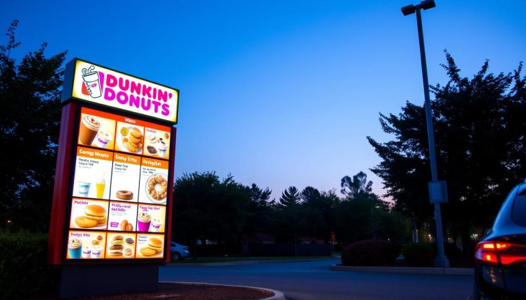
<path fill-rule="evenodd" d="M 475 259 L 487 264 L 526 262 L 526 245 L 483 241 L 477 244 Z"/>

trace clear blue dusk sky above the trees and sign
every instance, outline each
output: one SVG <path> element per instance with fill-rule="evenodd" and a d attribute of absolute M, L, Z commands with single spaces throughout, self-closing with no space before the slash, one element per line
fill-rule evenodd
<path fill-rule="evenodd" d="M 2 4 L 0 29 L 20 21 L 13 57 L 48 42 L 47 55 L 178 88 L 176 176 L 231 173 L 277 198 L 291 185 L 339 191 L 364 171 L 381 194 L 366 136 L 392 139 L 378 113 L 423 103 L 410 3 L 20 0 Z M 526 59 L 526 1 L 436 5 L 423 11 L 430 84 L 447 82 L 444 49 L 466 77 L 486 59 L 496 73 Z"/>

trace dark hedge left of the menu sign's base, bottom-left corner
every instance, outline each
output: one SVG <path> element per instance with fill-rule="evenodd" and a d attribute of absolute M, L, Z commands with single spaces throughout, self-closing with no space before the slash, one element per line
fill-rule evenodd
<path fill-rule="evenodd" d="M 47 267 L 47 234 L 0 232 L 2 299 L 51 295 L 52 278 Z"/>

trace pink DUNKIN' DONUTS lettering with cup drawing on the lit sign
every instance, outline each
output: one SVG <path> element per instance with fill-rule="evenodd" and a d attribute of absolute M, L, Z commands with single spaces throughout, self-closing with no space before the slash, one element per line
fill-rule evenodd
<path fill-rule="evenodd" d="M 152 86 L 145 81 L 136 81 L 133 77 L 120 76 L 117 72 L 105 74 L 95 70 L 95 66 L 82 69 L 82 94 L 116 102 L 118 107 L 135 107 L 164 116 L 170 114 L 168 103 L 173 103 L 173 98 L 177 98 L 171 90 L 164 90 L 160 85 Z"/>

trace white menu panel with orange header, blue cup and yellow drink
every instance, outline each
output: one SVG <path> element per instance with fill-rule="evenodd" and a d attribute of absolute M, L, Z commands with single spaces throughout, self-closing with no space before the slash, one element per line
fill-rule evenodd
<path fill-rule="evenodd" d="M 113 152 L 77 147 L 73 197 L 110 198 Z"/>

